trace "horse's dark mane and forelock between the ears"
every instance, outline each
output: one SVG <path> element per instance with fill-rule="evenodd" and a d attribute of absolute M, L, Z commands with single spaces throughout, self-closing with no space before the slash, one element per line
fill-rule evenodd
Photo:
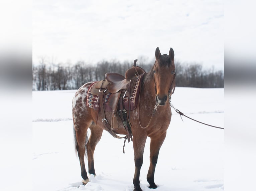
<path fill-rule="evenodd" d="M 170 67 L 172 65 L 171 58 L 167 54 L 163 54 L 158 60 L 160 61 L 159 62 L 160 67 L 164 67 L 164 66 Z M 156 60 L 155 63 L 158 62 L 158 60 Z M 143 86 L 146 84 L 149 84 L 150 79 L 154 78 L 154 73 L 153 73 L 154 66 L 151 68 L 151 70 L 148 73 L 145 74 L 145 77 L 143 79 Z"/>

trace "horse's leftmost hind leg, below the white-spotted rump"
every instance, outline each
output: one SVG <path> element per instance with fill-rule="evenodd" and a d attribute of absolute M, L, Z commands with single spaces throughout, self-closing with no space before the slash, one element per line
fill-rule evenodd
<path fill-rule="evenodd" d="M 78 151 L 83 184 L 87 184 L 89 182 L 89 178 L 87 176 L 87 172 L 85 169 L 84 156 L 85 156 L 85 149 L 86 149 L 87 130 L 88 130 L 88 127 L 91 125 L 91 123 L 92 121 L 74 126 L 75 132 L 76 132 L 76 142 L 77 142 L 76 149 Z"/>

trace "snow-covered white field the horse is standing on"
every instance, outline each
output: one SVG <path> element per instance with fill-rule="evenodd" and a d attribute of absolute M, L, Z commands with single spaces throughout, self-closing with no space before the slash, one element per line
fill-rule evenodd
<path fill-rule="evenodd" d="M 76 90 L 33 92 L 33 190 L 132 191 L 132 143 L 104 131 L 95 150 L 96 177 L 82 185 L 73 143 L 72 98 Z M 172 104 L 197 120 L 224 127 L 224 89 L 177 87 Z M 156 191 L 218 191 L 224 189 L 224 130 L 194 122 L 172 109 L 172 119 L 155 172 Z M 86 163 L 87 164 L 87 163 Z M 150 190 L 149 139 L 140 174 L 142 190 Z M 86 166 L 87 170 L 88 167 Z"/>

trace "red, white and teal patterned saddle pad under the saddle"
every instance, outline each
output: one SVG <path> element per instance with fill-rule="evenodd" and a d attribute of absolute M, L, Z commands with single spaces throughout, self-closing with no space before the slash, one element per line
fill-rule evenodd
<path fill-rule="evenodd" d="M 134 110 L 137 106 L 137 102 L 139 99 L 139 92 L 140 92 L 140 82 L 143 79 L 143 75 L 141 75 L 139 78 L 136 78 L 136 82 L 133 88 L 133 91 L 131 92 L 130 96 L 130 109 Z M 89 87 L 88 94 L 87 94 L 87 99 L 86 99 L 86 106 L 93 108 L 95 110 L 99 109 L 99 94 L 94 94 L 93 93 L 93 88 L 98 82 L 93 82 L 91 86 Z M 111 96 L 111 93 L 107 93 L 104 95 L 104 102 L 105 102 L 105 111 L 112 111 L 112 108 L 108 104 L 109 97 Z M 122 95 L 121 95 L 122 96 Z M 126 110 L 128 110 L 128 95 L 126 95 L 123 98 L 123 106 Z"/>

